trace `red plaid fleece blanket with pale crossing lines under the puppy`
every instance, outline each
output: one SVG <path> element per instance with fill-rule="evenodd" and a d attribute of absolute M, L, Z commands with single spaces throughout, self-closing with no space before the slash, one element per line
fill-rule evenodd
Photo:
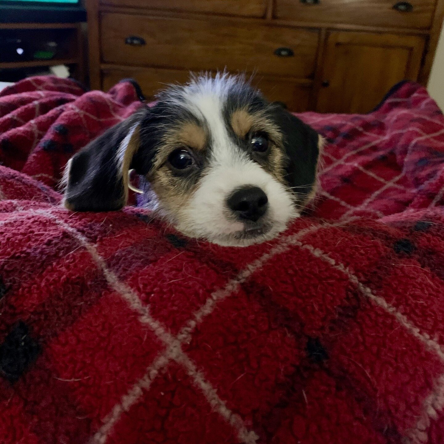
<path fill-rule="evenodd" d="M 444 442 L 444 118 L 398 85 L 329 141 L 310 214 L 244 249 L 70 213 L 67 159 L 141 106 L 0 93 L 0 442 Z"/>

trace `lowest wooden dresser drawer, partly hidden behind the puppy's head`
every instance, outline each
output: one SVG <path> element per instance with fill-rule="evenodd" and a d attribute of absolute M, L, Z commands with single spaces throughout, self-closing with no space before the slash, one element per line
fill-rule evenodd
<path fill-rule="evenodd" d="M 102 70 L 102 89 L 108 91 L 122 79 L 135 79 L 148 101 L 155 99 L 155 94 L 168 83 L 185 83 L 190 78 L 188 71 L 178 69 L 155 68 L 106 68 Z M 258 87 L 267 99 L 283 102 L 289 110 L 307 111 L 311 83 L 278 77 L 264 79 L 253 78 L 253 85 Z"/>

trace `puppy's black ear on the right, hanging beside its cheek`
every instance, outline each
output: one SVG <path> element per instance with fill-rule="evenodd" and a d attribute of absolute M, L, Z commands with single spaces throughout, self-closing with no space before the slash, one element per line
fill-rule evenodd
<path fill-rule="evenodd" d="M 309 196 L 316 185 L 323 139 L 312 127 L 282 107 L 276 106 L 273 112 L 287 156 L 285 180 L 296 193 Z"/>

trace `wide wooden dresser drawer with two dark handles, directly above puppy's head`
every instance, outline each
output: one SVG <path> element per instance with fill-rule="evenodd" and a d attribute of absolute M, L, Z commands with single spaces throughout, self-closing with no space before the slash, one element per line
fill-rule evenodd
<path fill-rule="evenodd" d="M 317 30 L 226 19 L 177 19 L 104 13 L 101 50 L 105 63 L 180 68 L 192 71 L 257 71 L 261 74 L 312 78 Z M 138 40 L 128 41 L 136 37 Z M 132 44 L 131 44 L 132 43 Z M 288 48 L 287 56 L 277 56 Z M 285 52 L 286 51 L 286 52 Z"/>

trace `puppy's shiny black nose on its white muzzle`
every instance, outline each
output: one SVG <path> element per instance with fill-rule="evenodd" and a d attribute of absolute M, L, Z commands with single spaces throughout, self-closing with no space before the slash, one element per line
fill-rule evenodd
<path fill-rule="evenodd" d="M 227 204 L 238 218 L 256 222 L 265 214 L 268 198 L 258 186 L 246 186 L 231 194 Z"/>

